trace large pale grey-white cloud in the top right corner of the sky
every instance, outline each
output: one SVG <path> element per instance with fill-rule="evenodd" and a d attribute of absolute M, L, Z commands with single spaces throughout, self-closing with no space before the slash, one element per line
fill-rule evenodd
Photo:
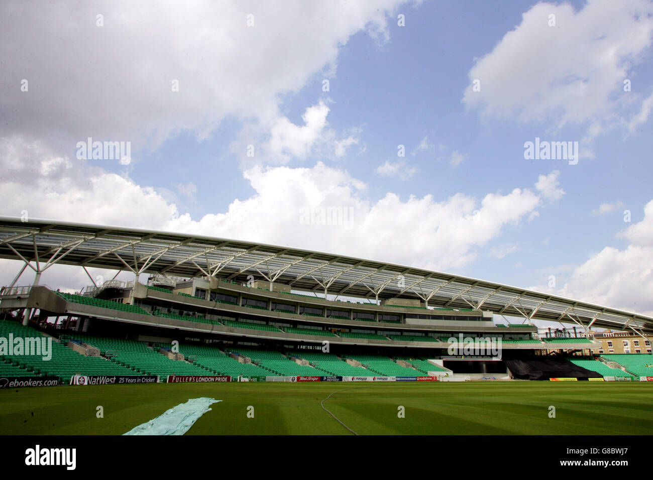
<path fill-rule="evenodd" d="M 610 125 L 628 125 L 624 119 L 642 99 L 625 93 L 623 82 L 650 46 L 652 13 L 645 0 L 589 0 L 577 11 L 567 3 L 537 3 L 475 61 L 463 101 L 486 117 L 551 121 L 555 128 L 586 124 L 588 140 Z M 480 91 L 473 91 L 476 79 Z M 650 102 L 642 104 L 634 124 L 648 117 Z"/>

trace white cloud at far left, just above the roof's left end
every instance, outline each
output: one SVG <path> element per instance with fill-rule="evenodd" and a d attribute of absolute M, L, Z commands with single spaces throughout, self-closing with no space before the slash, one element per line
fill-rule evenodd
<path fill-rule="evenodd" d="M 0 168 L 7 216 L 27 210 L 31 218 L 157 228 L 176 211 L 152 187 L 56 155 L 40 142 L 0 138 Z"/>

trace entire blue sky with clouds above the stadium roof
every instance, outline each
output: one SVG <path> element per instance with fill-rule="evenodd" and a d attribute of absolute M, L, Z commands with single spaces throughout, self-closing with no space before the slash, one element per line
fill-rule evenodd
<path fill-rule="evenodd" d="M 3 2 L 0 215 L 653 315 L 652 39 L 643 0 Z M 87 158 L 88 138 L 129 151 Z"/>

